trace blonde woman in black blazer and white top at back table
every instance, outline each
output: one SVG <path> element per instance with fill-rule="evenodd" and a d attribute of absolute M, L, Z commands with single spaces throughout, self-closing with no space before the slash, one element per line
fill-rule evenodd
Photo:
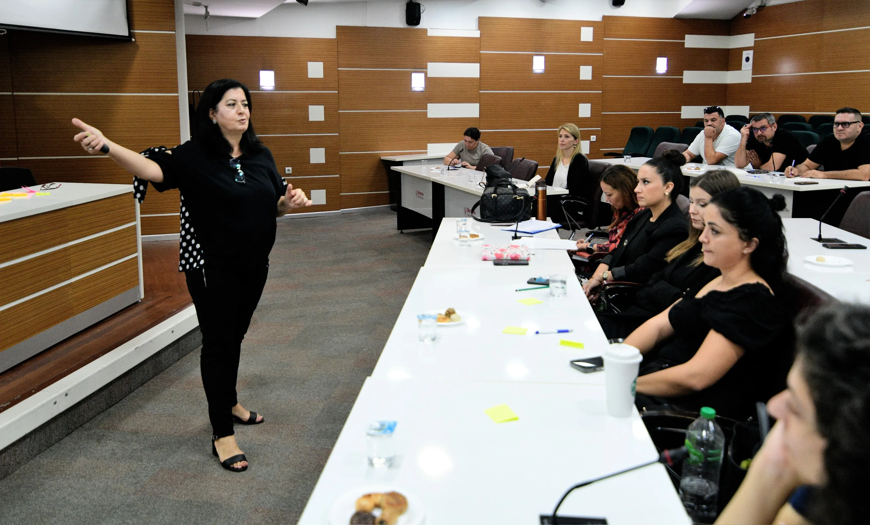
<path fill-rule="evenodd" d="M 568 190 L 568 195 L 587 196 L 593 184 L 589 180 L 589 160 L 580 151 L 580 130 L 577 124 L 564 124 L 559 128 L 559 150 L 552 158 L 546 173 L 546 184 L 553 188 Z M 550 195 L 546 199 L 547 215 L 556 223 L 565 220 L 562 215 L 561 196 Z"/>

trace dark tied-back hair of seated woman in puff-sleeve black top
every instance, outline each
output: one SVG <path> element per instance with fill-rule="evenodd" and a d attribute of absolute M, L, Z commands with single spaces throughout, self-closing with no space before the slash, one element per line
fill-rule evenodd
<path fill-rule="evenodd" d="M 786 234 L 780 214 L 776 212 L 780 208 L 779 201 L 768 199 L 758 189 L 740 186 L 717 193 L 710 204 L 719 208 L 722 218 L 737 229 L 741 240 L 759 240 L 758 247 L 749 256 L 749 264 L 775 292 L 788 263 Z"/>

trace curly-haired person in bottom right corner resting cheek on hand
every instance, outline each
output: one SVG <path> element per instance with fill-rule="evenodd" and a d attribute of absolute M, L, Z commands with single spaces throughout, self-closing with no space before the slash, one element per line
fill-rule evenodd
<path fill-rule="evenodd" d="M 718 525 L 859 525 L 870 516 L 870 308 L 833 303 L 796 323 L 777 422 Z"/>

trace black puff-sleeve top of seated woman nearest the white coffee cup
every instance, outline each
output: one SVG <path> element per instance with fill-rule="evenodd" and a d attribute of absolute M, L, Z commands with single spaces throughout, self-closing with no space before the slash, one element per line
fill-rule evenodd
<path fill-rule="evenodd" d="M 673 337 L 659 346 L 658 356 L 642 374 L 689 361 L 715 330 L 744 350 L 719 382 L 678 398 L 673 403 L 687 409 L 713 407 L 716 413 L 739 421 L 755 414 L 755 402 L 766 402 L 786 387 L 786 366 L 791 359 L 779 344 L 786 329 L 780 302 L 760 282 L 743 284 L 724 292 L 711 291 L 701 298 L 688 297 L 673 305 L 668 319 Z"/>

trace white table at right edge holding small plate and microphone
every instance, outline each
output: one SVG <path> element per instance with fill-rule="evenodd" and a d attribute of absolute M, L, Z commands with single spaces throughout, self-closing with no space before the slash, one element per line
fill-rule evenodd
<path fill-rule="evenodd" d="M 840 301 L 870 304 L 870 239 L 856 236 L 844 229 L 822 224 L 824 237 L 838 237 L 846 243 L 858 243 L 868 249 L 828 249 L 811 237 L 819 236 L 819 221 L 814 219 L 783 219 L 788 243 L 788 272 L 799 276 Z M 837 256 L 853 261 L 851 266 L 825 267 L 806 263 L 806 256 Z"/>

